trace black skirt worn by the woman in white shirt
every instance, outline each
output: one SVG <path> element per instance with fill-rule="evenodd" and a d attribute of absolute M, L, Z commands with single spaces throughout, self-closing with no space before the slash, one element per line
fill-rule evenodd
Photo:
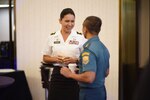
<path fill-rule="evenodd" d="M 54 68 L 49 85 L 48 100 L 79 100 L 78 82 L 61 75 L 59 67 Z"/>

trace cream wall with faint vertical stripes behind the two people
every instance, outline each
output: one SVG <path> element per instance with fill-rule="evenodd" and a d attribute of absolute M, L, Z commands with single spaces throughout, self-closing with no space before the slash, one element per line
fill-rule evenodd
<path fill-rule="evenodd" d="M 76 14 L 75 30 L 89 15 L 102 21 L 101 40 L 110 51 L 110 75 L 106 79 L 108 100 L 118 100 L 119 0 L 16 0 L 17 66 L 27 76 L 33 100 L 44 100 L 39 72 L 41 50 L 49 33 L 60 28 L 58 19 L 63 8 Z"/>

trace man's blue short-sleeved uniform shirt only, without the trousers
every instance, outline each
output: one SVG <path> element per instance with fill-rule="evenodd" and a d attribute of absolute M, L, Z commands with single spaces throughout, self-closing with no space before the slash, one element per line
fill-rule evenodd
<path fill-rule="evenodd" d="M 109 51 L 98 36 L 89 39 L 83 48 L 79 63 L 80 73 L 93 71 L 96 73 L 96 78 L 91 84 L 80 82 L 80 87 L 97 88 L 104 86 L 106 70 L 109 67 Z"/>

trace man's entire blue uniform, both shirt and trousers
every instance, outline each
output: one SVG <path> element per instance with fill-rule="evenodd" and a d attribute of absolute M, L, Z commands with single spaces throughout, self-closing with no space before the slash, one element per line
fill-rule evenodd
<path fill-rule="evenodd" d="M 96 77 L 93 83 L 79 82 L 79 100 L 106 100 L 104 84 L 109 68 L 109 52 L 98 36 L 89 39 L 83 47 L 79 61 L 80 73 L 92 71 L 96 73 Z"/>

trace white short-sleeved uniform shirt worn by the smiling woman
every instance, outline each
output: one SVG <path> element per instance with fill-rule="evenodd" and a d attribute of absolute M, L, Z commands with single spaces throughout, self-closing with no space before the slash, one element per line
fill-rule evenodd
<path fill-rule="evenodd" d="M 62 34 L 60 31 L 57 31 L 48 37 L 43 55 L 78 58 L 82 51 L 82 46 L 86 41 L 82 34 L 72 31 L 64 42 Z"/>

